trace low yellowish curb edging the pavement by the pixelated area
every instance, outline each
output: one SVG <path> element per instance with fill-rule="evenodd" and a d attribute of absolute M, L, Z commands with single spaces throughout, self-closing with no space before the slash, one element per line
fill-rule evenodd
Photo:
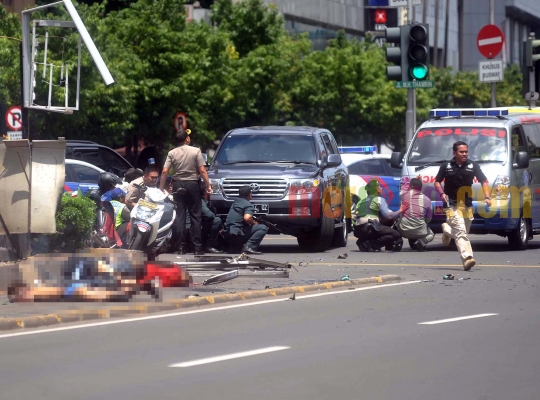
<path fill-rule="evenodd" d="M 292 295 L 295 293 L 328 291 L 331 289 L 341 289 L 362 285 L 385 285 L 401 281 L 402 278 L 398 275 L 382 275 L 372 278 L 325 282 L 314 285 L 288 286 L 275 289 L 250 290 L 248 292 L 219 294 L 215 296 L 197 296 L 187 299 L 172 299 L 163 303 L 133 303 L 122 306 L 103 307 L 95 310 L 69 310 L 61 311 L 56 314 L 40 316 L 0 318 L 0 331 L 40 328 L 61 323 L 90 321 L 96 319 L 136 317 L 157 312 L 207 306 L 212 304 L 224 304 L 235 301 L 264 299 Z"/>

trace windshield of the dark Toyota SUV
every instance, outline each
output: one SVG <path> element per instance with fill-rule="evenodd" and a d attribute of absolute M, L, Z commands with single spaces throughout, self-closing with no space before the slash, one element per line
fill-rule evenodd
<path fill-rule="evenodd" d="M 215 163 L 293 162 L 315 164 L 315 143 L 308 135 L 230 135 Z"/>

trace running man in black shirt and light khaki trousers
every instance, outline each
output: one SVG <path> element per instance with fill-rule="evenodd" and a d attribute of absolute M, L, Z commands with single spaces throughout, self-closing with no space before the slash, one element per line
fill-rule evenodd
<path fill-rule="evenodd" d="M 473 217 L 472 184 L 476 177 L 482 184 L 485 203 L 491 206 L 487 178 L 480 166 L 469 160 L 469 146 L 459 141 L 452 146 L 454 158 L 439 168 L 435 177 L 435 189 L 446 203 L 446 222 L 442 224 L 442 242 L 445 246 L 455 239 L 463 262 L 463 269 L 469 271 L 476 265 L 473 258 L 471 242 L 468 238 Z M 441 186 L 444 181 L 444 192 Z M 461 190 L 460 190 L 461 189 Z"/>

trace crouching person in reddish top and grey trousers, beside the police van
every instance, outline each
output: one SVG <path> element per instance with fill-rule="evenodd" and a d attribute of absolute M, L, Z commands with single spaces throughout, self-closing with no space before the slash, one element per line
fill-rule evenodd
<path fill-rule="evenodd" d="M 410 189 L 403 196 L 403 201 L 409 203 L 410 206 L 399 220 L 397 230 L 402 237 L 413 240 L 411 247 L 418 251 L 425 251 L 435 234 L 428 227 L 433 216 L 433 209 L 431 200 L 422 193 L 421 179 L 411 179 Z"/>

